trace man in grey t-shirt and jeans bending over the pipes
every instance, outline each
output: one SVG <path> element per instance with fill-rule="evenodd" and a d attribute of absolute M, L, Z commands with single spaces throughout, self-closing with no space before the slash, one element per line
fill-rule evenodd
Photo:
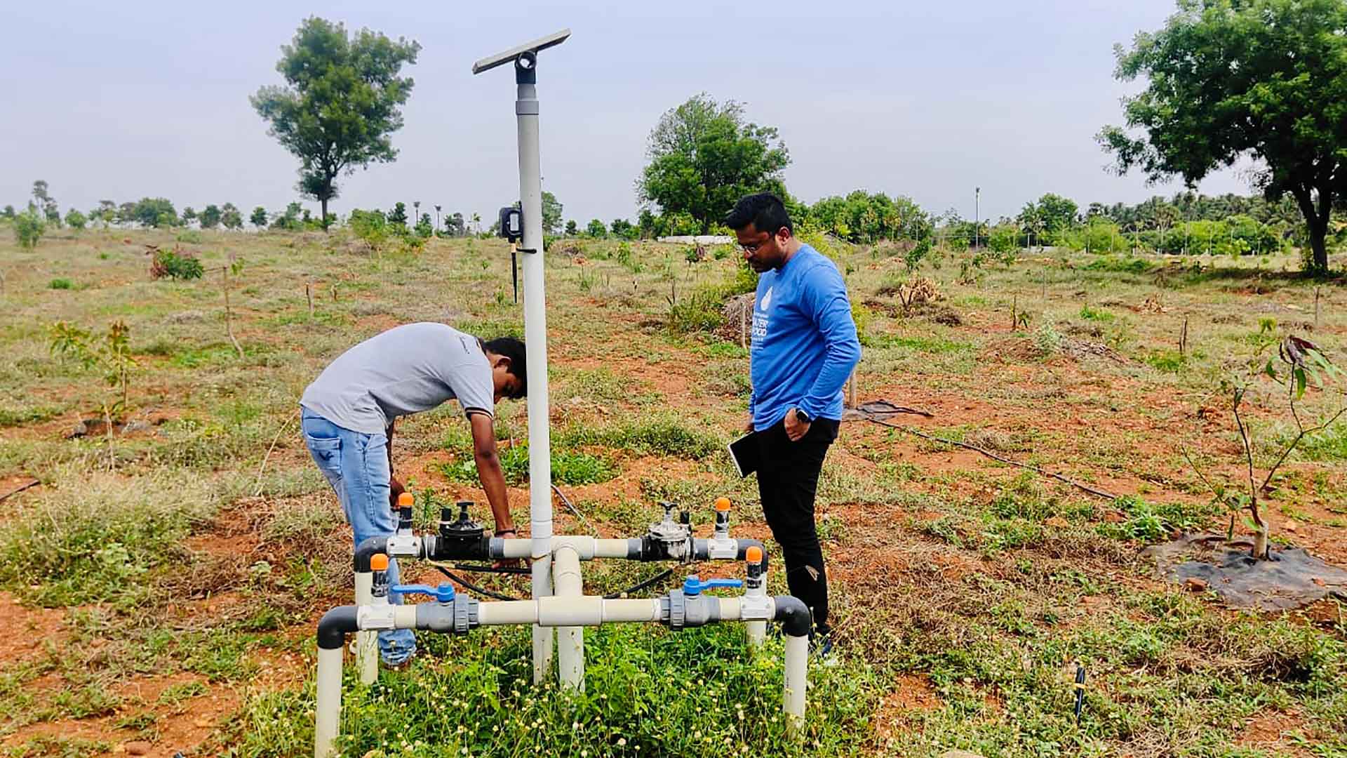
<path fill-rule="evenodd" d="M 343 352 L 300 398 L 304 444 L 341 500 L 356 544 L 397 530 L 392 506 L 403 486 L 393 477 L 393 421 L 457 399 L 473 429 L 477 476 L 496 518 L 496 535 L 515 537 L 505 475 L 492 426 L 496 401 L 523 398 L 524 343 L 484 343 L 443 324 L 404 324 Z M 397 564 L 388 565 L 391 584 Z M 384 662 L 416 651 L 411 630 L 379 635 Z"/>

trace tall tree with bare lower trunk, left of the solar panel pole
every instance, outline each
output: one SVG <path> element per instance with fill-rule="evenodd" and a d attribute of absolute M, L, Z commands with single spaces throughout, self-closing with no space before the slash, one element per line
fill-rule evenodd
<path fill-rule="evenodd" d="M 304 19 L 276 63 L 286 85 L 249 98 L 271 124 L 268 134 L 299 158 L 299 192 L 322 205 L 325 228 L 342 171 L 397 156 L 391 135 L 403 127 L 399 108 L 412 92 L 411 77 L 397 73 L 419 51 L 403 38 L 369 30 L 352 38 L 342 24 Z"/>

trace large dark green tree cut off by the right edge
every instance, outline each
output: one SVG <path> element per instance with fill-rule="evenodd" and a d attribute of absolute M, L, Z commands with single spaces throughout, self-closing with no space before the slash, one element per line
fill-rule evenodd
<path fill-rule="evenodd" d="M 1123 100 L 1126 125 L 1099 139 L 1117 167 L 1191 187 L 1239 158 L 1268 200 L 1296 198 L 1313 252 L 1347 190 L 1347 0 L 1180 0 L 1165 27 L 1117 49 L 1117 77 L 1149 84 Z"/>

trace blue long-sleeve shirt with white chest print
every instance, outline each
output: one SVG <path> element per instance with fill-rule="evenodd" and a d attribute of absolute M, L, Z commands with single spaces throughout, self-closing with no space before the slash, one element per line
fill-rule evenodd
<path fill-rule="evenodd" d="M 801 245 L 781 268 L 758 276 L 753 302 L 749 415 L 758 432 L 797 407 L 842 418 L 842 387 L 861 360 L 846 283 L 836 266 Z"/>

